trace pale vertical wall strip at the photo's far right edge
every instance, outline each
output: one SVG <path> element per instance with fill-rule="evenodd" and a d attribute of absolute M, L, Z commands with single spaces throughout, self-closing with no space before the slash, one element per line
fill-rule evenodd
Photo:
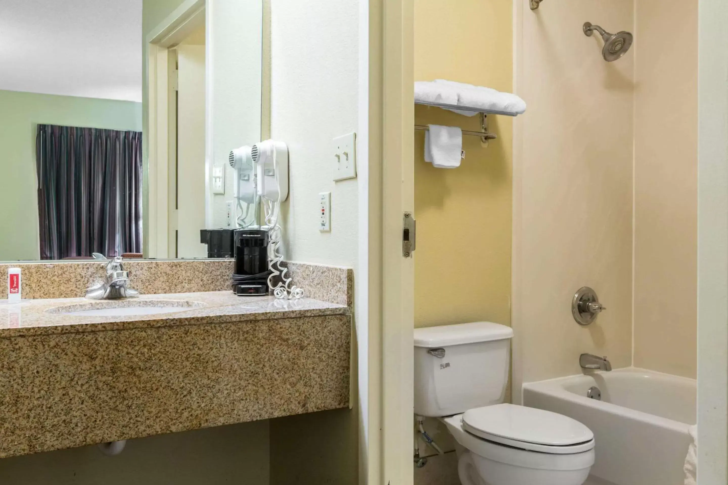
<path fill-rule="evenodd" d="M 700 0 L 698 36 L 697 430 L 700 485 L 728 483 L 728 23 Z"/>

